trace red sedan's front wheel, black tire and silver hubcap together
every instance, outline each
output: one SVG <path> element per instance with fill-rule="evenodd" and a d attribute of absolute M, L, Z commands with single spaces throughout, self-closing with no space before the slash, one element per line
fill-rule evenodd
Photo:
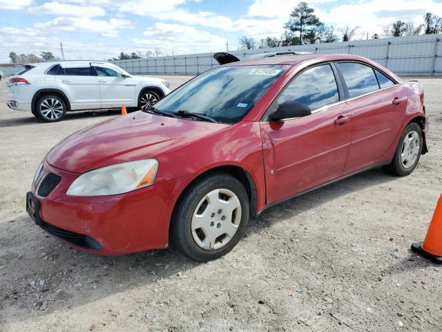
<path fill-rule="evenodd" d="M 249 196 L 240 181 L 227 173 L 207 175 L 175 205 L 169 242 L 195 261 L 210 261 L 236 246 L 248 221 Z"/>

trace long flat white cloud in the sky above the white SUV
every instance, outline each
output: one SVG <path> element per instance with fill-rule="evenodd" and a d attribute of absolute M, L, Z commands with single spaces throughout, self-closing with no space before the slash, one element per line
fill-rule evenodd
<path fill-rule="evenodd" d="M 132 28 L 127 19 L 89 19 L 87 17 L 57 17 L 45 23 L 36 23 L 36 28 L 42 30 L 80 31 L 84 33 L 98 33 L 104 37 L 117 37 L 122 29 Z"/>

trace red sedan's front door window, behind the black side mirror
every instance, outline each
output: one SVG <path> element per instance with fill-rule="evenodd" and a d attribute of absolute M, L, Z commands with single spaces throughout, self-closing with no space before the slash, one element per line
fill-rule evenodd
<path fill-rule="evenodd" d="M 278 98 L 278 105 L 286 100 L 302 102 L 311 111 L 339 101 L 338 86 L 329 64 L 316 66 L 301 73 Z"/>

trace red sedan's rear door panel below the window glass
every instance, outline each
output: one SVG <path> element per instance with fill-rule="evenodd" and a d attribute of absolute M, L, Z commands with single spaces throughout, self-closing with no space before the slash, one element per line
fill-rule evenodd
<path fill-rule="evenodd" d="M 345 172 L 385 161 L 381 159 L 401 127 L 407 94 L 402 86 L 396 85 L 350 100 L 349 105 L 352 107 L 352 142 Z"/>

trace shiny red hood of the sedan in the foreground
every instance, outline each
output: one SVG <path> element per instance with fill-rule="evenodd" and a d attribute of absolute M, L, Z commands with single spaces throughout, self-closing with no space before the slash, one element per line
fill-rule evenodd
<path fill-rule="evenodd" d="M 100 122 L 73 133 L 46 156 L 46 162 L 69 172 L 144 158 L 159 158 L 228 124 L 155 116 L 142 111 Z"/>

